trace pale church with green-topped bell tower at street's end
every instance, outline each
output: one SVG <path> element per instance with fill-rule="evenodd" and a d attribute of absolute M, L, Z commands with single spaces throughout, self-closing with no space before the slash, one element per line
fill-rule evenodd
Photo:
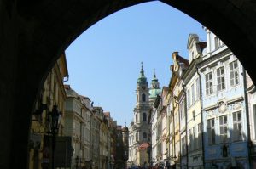
<path fill-rule="evenodd" d="M 137 102 L 133 110 L 133 122 L 129 127 L 129 160 L 128 166 L 142 165 L 142 162 L 147 162 L 139 151 L 142 144 L 147 144 L 151 140 L 150 124 L 148 124 L 149 110 L 154 103 L 154 99 L 160 91 L 158 79 L 155 76 L 151 82 L 151 87 L 148 87 L 147 77 L 144 74 L 143 63 L 140 75 L 137 79 L 136 96 Z M 150 94 L 153 94 L 153 97 Z"/>

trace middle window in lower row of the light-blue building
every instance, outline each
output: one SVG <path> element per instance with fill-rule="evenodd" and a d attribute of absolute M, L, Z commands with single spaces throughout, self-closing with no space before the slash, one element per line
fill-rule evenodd
<path fill-rule="evenodd" d="M 220 143 L 228 141 L 228 116 L 223 115 L 219 117 L 219 136 Z"/>

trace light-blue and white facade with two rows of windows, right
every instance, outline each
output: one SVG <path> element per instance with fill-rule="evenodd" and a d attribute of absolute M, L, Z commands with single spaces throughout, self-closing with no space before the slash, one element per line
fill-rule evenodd
<path fill-rule="evenodd" d="M 248 168 L 245 73 L 239 60 L 212 31 L 201 76 L 205 168 Z"/>

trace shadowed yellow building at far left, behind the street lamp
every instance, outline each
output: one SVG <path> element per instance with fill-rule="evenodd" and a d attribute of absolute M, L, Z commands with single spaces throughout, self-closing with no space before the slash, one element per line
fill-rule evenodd
<path fill-rule="evenodd" d="M 49 144 L 49 140 L 46 141 L 46 136 L 49 135 L 49 112 L 52 111 L 54 105 L 57 105 L 61 112 L 61 122 L 57 134 L 63 135 L 64 101 L 66 100 L 63 81 L 65 77 L 68 77 L 66 55 L 61 54 L 52 70 L 49 71 L 33 111 L 29 149 L 30 169 L 44 169 L 51 165 L 51 151 L 44 147 Z"/>

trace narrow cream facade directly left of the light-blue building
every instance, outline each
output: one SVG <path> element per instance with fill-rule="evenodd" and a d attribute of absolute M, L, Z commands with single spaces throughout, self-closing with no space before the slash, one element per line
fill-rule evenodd
<path fill-rule="evenodd" d="M 202 115 L 201 115 L 201 79 L 197 64 L 202 60 L 203 49 L 207 42 L 200 42 L 196 34 L 190 34 L 187 48 L 189 50 L 189 67 L 183 74 L 186 99 L 180 104 L 185 105 L 182 114 L 185 114 L 187 125 L 188 168 L 203 168 L 202 142 Z M 184 143 L 183 143 L 184 144 Z M 186 149 L 185 145 L 183 145 Z"/>

